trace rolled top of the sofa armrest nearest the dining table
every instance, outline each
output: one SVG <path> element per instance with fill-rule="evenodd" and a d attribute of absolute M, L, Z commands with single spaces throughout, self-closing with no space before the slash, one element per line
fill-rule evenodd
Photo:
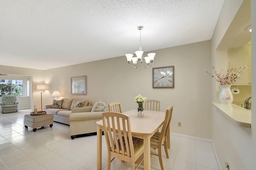
<path fill-rule="evenodd" d="M 82 113 L 71 113 L 69 115 L 70 121 L 88 121 L 102 119 L 102 113 L 104 112 L 82 112 Z"/>

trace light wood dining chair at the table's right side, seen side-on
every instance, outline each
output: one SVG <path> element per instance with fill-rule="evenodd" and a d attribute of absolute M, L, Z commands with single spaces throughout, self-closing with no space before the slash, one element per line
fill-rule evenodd
<path fill-rule="evenodd" d="M 164 119 L 164 124 L 161 132 L 155 132 L 155 134 L 150 138 L 150 146 L 152 148 L 158 148 L 158 154 L 152 153 L 153 155 L 158 156 L 161 169 L 164 170 L 163 162 L 162 162 L 162 150 L 161 146 L 164 145 L 164 150 L 166 154 L 166 158 L 169 159 L 168 150 L 167 150 L 167 132 L 170 125 L 170 121 L 172 119 L 172 108 L 173 106 L 169 106 L 166 110 L 166 115 Z"/>

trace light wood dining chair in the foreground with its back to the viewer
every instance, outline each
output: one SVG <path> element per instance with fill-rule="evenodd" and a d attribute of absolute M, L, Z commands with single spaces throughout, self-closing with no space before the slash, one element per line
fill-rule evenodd
<path fill-rule="evenodd" d="M 130 117 L 121 113 L 105 112 L 102 113 L 102 120 L 108 148 L 107 169 L 110 170 L 114 158 L 130 162 L 132 170 L 137 169 L 144 160 L 142 158 L 135 167 L 135 161 L 143 154 L 144 143 L 142 139 L 132 137 Z"/>

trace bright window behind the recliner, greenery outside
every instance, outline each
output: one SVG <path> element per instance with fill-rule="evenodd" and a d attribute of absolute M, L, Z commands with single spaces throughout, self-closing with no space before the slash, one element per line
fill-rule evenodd
<path fill-rule="evenodd" d="M 29 96 L 29 80 L 1 79 L 0 96 L 2 95 Z"/>

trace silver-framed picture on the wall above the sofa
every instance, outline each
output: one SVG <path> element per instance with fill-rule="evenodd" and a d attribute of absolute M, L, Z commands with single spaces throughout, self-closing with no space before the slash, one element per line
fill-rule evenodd
<path fill-rule="evenodd" d="M 71 77 L 71 95 L 87 95 L 86 75 Z"/>

